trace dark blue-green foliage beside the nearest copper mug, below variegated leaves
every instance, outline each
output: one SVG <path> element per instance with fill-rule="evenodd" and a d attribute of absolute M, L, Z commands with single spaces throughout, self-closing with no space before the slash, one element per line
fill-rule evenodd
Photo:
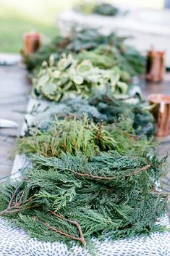
<path fill-rule="evenodd" d="M 101 94 L 101 96 L 97 95 L 90 99 L 90 104 L 106 116 L 103 120 L 106 120 L 107 123 L 116 123 L 119 121 L 119 117 L 129 118 L 132 120 L 137 134 L 145 134 L 148 137 L 153 135 L 155 132 L 154 119 L 145 102 L 139 99 L 139 102 L 130 104 L 126 99 L 115 99 L 110 95 Z"/>

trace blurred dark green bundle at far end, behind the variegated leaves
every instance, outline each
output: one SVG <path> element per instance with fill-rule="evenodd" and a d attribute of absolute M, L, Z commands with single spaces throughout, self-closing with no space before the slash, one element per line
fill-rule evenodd
<path fill-rule="evenodd" d="M 145 72 L 145 58 L 134 47 L 125 44 L 127 38 L 111 33 L 103 35 L 96 29 L 86 28 L 80 31 L 72 31 L 69 38 L 56 36 L 50 44 L 41 46 L 34 54 L 24 54 L 24 62 L 27 70 L 38 70 L 44 60 L 48 62 L 51 54 L 54 54 L 56 62 L 61 54 L 80 54 L 80 60 L 90 59 L 94 66 L 103 69 L 119 67 L 124 76 L 140 75 Z M 95 50 L 95 51 L 93 51 Z M 93 51 L 90 54 L 88 51 Z M 85 57 L 86 56 L 86 57 Z"/>

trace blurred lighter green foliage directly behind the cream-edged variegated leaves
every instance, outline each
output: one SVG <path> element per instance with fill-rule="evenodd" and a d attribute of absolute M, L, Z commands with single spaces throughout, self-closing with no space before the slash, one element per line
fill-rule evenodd
<path fill-rule="evenodd" d="M 77 59 L 90 59 L 96 67 L 108 69 L 119 68 L 122 80 L 128 81 L 132 75 L 144 72 L 144 58 L 130 46 L 101 45 L 93 51 L 82 51 L 77 54 Z M 139 65 L 140 63 L 140 65 Z"/>

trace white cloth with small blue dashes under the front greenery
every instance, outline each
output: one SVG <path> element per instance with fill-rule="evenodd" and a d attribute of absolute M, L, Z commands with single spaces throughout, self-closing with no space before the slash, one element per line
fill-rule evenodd
<path fill-rule="evenodd" d="M 168 218 L 163 224 L 169 225 Z M 31 239 L 21 228 L 13 228 L 0 219 L 1 256 L 169 256 L 170 233 L 155 232 L 150 236 L 116 241 L 95 241 L 95 254 L 85 247 L 73 246 L 72 251 L 61 242 L 43 242 Z"/>

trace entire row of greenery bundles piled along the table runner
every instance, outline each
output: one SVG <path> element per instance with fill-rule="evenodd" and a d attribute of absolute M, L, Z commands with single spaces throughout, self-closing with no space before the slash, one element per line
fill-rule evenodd
<path fill-rule="evenodd" d="M 140 104 L 128 105 L 113 97 L 127 93 L 122 70 L 140 73 L 143 65 L 137 63 L 142 57 L 133 50 L 127 53 L 122 38 L 101 36 L 95 30 L 57 40 L 45 48 L 47 58 L 39 55 L 45 61 L 33 80 L 33 94 L 63 104 L 68 92 L 76 92 L 80 104 L 86 104 L 77 111 L 75 99 L 67 102 L 67 115 L 54 112 L 18 139 L 17 152 L 26 154 L 31 165 L 23 168 L 19 180 L 1 185 L 0 215 L 30 236 L 69 246 L 70 241 L 85 246 L 92 238 L 119 239 L 166 230 L 156 224 L 168 205 L 167 195 L 158 186 L 166 157 L 158 160 L 153 142 L 139 133 L 153 120 Z M 57 57 L 53 54 L 48 61 L 56 46 Z M 103 57 L 105 49 L 108 58 L 113 46 L 123 58 L 116 57 L 116 68 L 96 59 Z M 67 54 L 62 54 L 63 49 Z M 70 51 L 80 55 L 72 57 Z M 83 54 L 89 54 L 88 59 Z M 40 59 L 31 57 L 37 65 Z M 98 118 L 88 111 L 92 108 Z M 152 131 L 146 129 L 145 134 Z"/>

